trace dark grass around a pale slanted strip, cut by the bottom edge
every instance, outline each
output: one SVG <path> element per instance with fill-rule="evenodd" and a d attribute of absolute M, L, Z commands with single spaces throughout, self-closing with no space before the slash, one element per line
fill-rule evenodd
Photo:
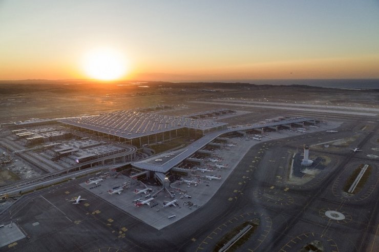
<path fill-rule="evenodd" d="M 237 251 L 240 246 L 242 246 L 245 242 L 249 240 L 252 234 L 254 234 L 255 230 L 257 230 L 258 226 L 260 224 L 259 219 L 252 219 L 249 221 L 245 221 L 241 225 L 236 226 L 233 228 L 233 230 L 230 230 L 229 233 L 224 235 L 224 237 L 217 242 L 215 248 L 213 249 L 214 252 L 218 251 L 220 248 L 222 248 L 230 239 L 235 237 L 240 231 L 245 228 L 247 225 L 252 225 L 252 228 L 244 235 L 242 236 L 233 246 L 231 246 L 228 251 Z"/>

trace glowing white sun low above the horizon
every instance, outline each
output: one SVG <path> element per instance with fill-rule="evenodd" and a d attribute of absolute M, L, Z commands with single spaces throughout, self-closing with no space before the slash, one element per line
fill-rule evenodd
<path fill-rule="evenodd" d="M 127 65 L 122 53 L 112 49 L 97 49 L 88 52 L 83 66 L 89 77 L 99 80 L 115 80 L 127 73 Z"/>

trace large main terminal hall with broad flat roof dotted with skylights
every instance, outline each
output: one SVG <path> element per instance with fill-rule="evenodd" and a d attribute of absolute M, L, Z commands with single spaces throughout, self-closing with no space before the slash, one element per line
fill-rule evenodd
<path fill-rule="evenodd" d="M 116 111 L 59 122 L 77 131 L 142 147 L 145 144 L 170 141 L 180 136 L 199 139 L 207 133 L 226 129 L 227 123 L 209 120 L 206 117 L 212 118 L 218 113 L 232 112 L 234 111 L 222 110 L 185 117 L 138 111 Z"/>

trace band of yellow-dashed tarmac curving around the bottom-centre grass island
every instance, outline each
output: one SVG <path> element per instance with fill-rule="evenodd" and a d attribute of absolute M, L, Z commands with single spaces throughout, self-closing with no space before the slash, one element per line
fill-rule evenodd
<path fill-rule="evenodd" d="M 244 213 L 238 216 L 235 216 L 234 218 L 224 222 L 220 226 L 218 226 L 213 232 L 208 234 L 205 239 L 200 243 L 199 247 L 197 248 L 196 251 L 199 250 L 204 250 L 206 249 L 207 251 L 213 250 L 216 243 L 222 239 L 222 237 L 227 234 L 232 228 L 240 225 L 244 221 L 247 220 L 252 220 L 252 219 L 259 219 L 260 224 L 258 228 L 255 230 L 255 232 L 250 236 L 248 241 L 254 241 L 254 248 L 247 248 L 249 251 L 255 251 L 265 240 L 267 237 L 268 233 L 271 230 L 271 218 L 266 216 L 265 214 L 260 214 L 257 212 L 249 212 L 249 213 Z M 232 221 L 233 220 L 233 221 Z M 221 228 L 223 227 L 223 228 Z M 266 228 L 268 227 L 268 230 Z M 216 230 L 220 230 L 217 233 L 215 232 Z M 264 233 L 264 234 L 261 234 Z M 256 237 L 256 238 L 254 238 Z M 205 244 L 205 245 L 204 245 Z"/>

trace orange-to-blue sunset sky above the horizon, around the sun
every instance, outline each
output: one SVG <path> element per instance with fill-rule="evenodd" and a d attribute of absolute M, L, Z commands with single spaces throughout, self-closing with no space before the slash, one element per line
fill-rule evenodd
<path fill-rule="evenodd" d="M 1 80 L 97 78 L 104 50 L 123 79 L 379 78 L 379 1 L 0 0 Z"/>

